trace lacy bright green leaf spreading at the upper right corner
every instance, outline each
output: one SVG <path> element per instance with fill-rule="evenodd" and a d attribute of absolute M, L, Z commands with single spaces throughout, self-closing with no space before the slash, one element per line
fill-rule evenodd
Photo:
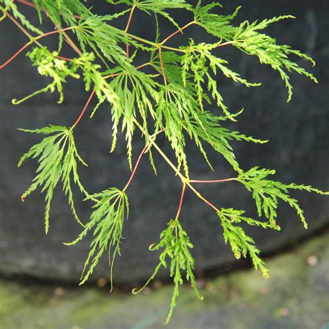
<path fill-rule="evenodd" d="M 289 56 L 294 55 L 304 60 L 309 60 L 314 65 L 314 60 L 301 51 L 294 50 L 287 45 L 280 45 L 276 43 L 276 39 L 269 37 L 259 31 L 267 28 L 270 24 L 278 22 L 281 19 L 294 18 L 290 15 L 273 17 L 272 19 L 264 19 L 262 22 L 248 21 L 240 24 L 235 32 L 233 45 L 238 49 L 244 51 L 248 55 L 258 56 L 262 64 L 271 65 L 272 69 L 278 71 L 282 80 L 288 89 L 288 99 L 292 99 L 292 85 L 289 82 L 289 72 L 295 71 L 298 74 L 303 74 L 317 83 L 317 79 L 313 74 L 307 72 L 303 67 L 300 67 L 296 62 L 290 60 Z"/>

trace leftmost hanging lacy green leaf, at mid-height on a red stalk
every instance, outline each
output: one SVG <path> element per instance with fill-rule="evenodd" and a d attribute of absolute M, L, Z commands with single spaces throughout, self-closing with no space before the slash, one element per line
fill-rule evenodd
<path fill-rule="evenodd" d="M 46 211 L 45 211 L 45 228 L 46 233 L 49 230 L 49 212 L 51 207 L 51 200 L 53 199 L 53 190 L 62 183 L 63 191 L 68 196 L 69 205 L 74 214 L 74 217 L 81 223 L 76 214 L 74 207 L 74 199 L 71 188 L 71 183 L 78 185 L 78 188 L 87 195 L 87 192 L 81 184 L 77 171 L 77 162 L 86 165 L 85 162 L 78 155 L 76 144 L 71 129 L 64 126 L 49 126 L 41 129 L 20 129 L 26 133 L 35 133 L 42 135 L 49 135 L 44 137 L 42 142 L 35 144 L 31 149 L 25 153 L 19 160 L 18 167 L 28 159 L 37 158 L 39 166 L 37 167 L 36 176 L 33 178 L 33 183 L 22 194 L 22 200 L 31 194 L 35 189 L 40 187 L 41 192 L 46 192 Z M 83 225 L 81 223 L 81 225 Z"/>

